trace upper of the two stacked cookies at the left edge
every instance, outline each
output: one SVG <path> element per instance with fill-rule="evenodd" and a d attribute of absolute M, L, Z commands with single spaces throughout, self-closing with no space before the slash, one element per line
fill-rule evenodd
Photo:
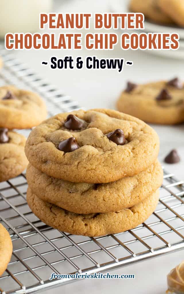
<path fill-rule="evenodd" d="M 32 128 L 46 116 L 44 101 L 36 93 L 14 86 L 0 87 L 0 127 Z"/>

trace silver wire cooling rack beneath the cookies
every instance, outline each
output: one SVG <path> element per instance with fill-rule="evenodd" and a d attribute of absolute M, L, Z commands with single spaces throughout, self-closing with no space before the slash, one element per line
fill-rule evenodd
<path fill-rule="evenodd" d="M 62 91 L 21 64 L 0 45 L 0 84 L 16 84 L 44 97 L 49 115 L 78 108 Z M 30 130 L 21 130 L 28 135 Z M 75 281 L 51 273 L 102 273 L 184 248 L 184 181 L 164 171 L 156 211 L 137 228 L 98 238 L 60 232 L 42 223 L 26 202 L 25 174 L 0 183 L 0 223 L 10 233 L 13 255 L 0 277 L 0 293 L 34 293 Z"/>

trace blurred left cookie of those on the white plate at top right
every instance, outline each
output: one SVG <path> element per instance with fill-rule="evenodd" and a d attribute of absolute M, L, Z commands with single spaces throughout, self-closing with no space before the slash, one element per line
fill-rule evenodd
<path fill-rule="evenodd" d="M 166 12 L 160 9 L 159 2 L 160 0 L 131 0 L 130 10 L 143 13 L 145 18 L 150 21 L 160 24 L 172 24 L 173 20 Z"/>

